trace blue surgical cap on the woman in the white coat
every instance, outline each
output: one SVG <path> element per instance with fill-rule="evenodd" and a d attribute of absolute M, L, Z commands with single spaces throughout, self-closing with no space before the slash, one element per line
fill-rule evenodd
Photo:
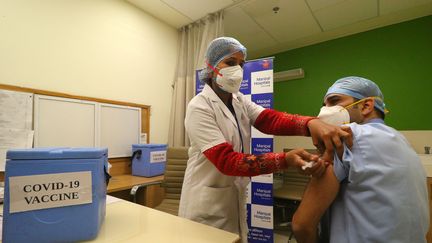
<path fill-rule="evenodd" d="M 207 47 L 205 61 L 212 67 L 216 67 L 223 59 L 232 54 L 241 51 L 246 59 L 246 47 L 244 47 L 238 40 L 231 37 L 219 37 L 210 42 Z M 213 70 L 206 65 L 206 67 L 199 72 L 199 79 L 201 82 L 207 82 L 213 74 Z"/>

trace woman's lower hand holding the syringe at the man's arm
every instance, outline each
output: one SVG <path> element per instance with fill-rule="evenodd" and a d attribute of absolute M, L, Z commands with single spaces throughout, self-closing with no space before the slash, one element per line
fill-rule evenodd
<path fill-rule="evenodd" d="M 285 160 L 288 166 L 296 167 L 300 174 L 313 177 L 320 177 L 328 165 L 318 155 L 308 153 L 304 149 L 293 149 L 285 153 Z"/>

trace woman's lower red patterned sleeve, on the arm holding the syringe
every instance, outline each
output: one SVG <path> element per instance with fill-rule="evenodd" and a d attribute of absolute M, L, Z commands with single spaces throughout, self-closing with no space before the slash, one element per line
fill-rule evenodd
<path fill-rule="evenodd" d="M 243 154 L 234 152 L 229 143 L 211 147 L 204 151 L 204 155 L 222 174 L 230 176 L 269 174 L 288 167 L 285 153 Z"/>

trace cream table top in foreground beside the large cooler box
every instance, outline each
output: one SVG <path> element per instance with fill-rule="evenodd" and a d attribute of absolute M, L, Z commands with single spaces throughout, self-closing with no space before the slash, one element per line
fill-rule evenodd
<path fill-rule="evenodd" d="M 107 205 L 105 222 L 93 241 L 108 242 L 240 242 L 236 234 L 120 200 Z"/>

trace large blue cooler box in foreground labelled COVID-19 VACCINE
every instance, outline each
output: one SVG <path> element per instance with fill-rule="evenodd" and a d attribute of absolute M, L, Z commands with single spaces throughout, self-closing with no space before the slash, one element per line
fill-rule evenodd
<path fill-rule="evenodd" d="M 75 242 L 105 218 L 107 149 L 9 150 L 3 243 Z"/>

